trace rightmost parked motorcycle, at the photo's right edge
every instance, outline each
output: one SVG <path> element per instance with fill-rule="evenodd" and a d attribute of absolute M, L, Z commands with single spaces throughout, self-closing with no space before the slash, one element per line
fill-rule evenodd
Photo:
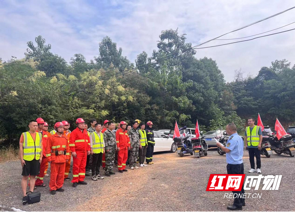
<path fill-rule="evenodd" d="M 277 137 L 272 137 L 270 139 L 271 147 L 270 149 L 275 151 L 278 155 L 284 153 L 285 155 L 295 156 L 295 143 L 292 140 L 291 135 L 284 135 L 280 140 Z"/>

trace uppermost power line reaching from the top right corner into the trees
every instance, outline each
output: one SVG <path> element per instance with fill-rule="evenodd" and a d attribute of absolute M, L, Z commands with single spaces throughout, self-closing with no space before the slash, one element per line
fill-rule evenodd
<path fill-rule="evenodd" d="M 223 34 L 223 35 L 220 35 L 220 36 L 215 37 L 215 38 L 213 38 L 213 39 L 207 40 L 207 41 L 205 41 L 205 42 L 202 43 L 202 44 L 199 44 L 199 45 L 196 45 L 196 46 L 194 46 L 194 47 L 188 48 L 188 49 L 186 49 L 186 50 L 184 50 L 184 51 L 182 51 L 182 52 L 179 52 L 179 53 L 176 53 L 176 54 L 170 54 L 170 55 L 167 55 L 166 57 L 163 57 L 162 59 L 160 59 L 160 60 L 158 60 L 158 61 L 149 62 L 149 63 L 146 63 L 146 64 L 144 64 L 144 65 L 137 66 L 137 67 L 135 67 L 135 68 L 133 68 L 133 69 L 124 70 L 124 71 L 120 72 L 118 75 L 115 74 L 114 77 L 123 76 L 124 74 L 131 73 L 132 71 L 135 71 L 135 70 L 138 69 L 138 68 L 153 65 L 154 63 L 157 63 L 157 62 L 161 62 L 161 61 L 163 61 L 163 60 L 166 60 L 166 59 L 170 58 L 171 56 L 178 56 L 178 55 L 180 55 L 180 54 L 183 54 L 183 53 L 187 52 L 188 50 L 195 49 L 196 47 L 202 46 L 202 45 L 204 45 L 204 44 L 206 44 L 206 43 L 209 43 L 209 42 L 212 41 L 212 40 L 218 39 L 218 38 L 220 38 L 220 37 L 222 37 L 222 36 L 224 36 L 224 35 L 227 35 L 227 34 L 229 34 L 229 33 L 236 32 L 236 31 L 239 31 L 239 30 L 241 30 L 241 29 L 244 29 L 244 28 L 250 27 L 250 26 L 252 26 L 252 25 L 255 25 L 255 24 L 257 24 L 257 23 L 263 22 L 263 21 L 266 20 L 266 19 L 269 19 L 269 18 L 275 17 L 275 16 L 277 16 L 277 15 L 280 15 L 280 14 L 282 14 L 282 13 L 285 13 L 285 12 L 287 12 L 287 11 L 289 11 L 289 10 L 294 9 L 294 8 L 295 8 L 295 7 L 291 7 L 291 8 L 289 8 L 289 9 L 286 9 L 286 10 L 282 11 L 282 12 L 279 12 L 279 13 L 276 13 L 276 14 L 274 14 L 274 15 L 271 15 L 271 16 L 268 16 L 268 17 L 266 17 L 266 18 L 263 18 L 263 19 L 261 19 L 261 20 L 258 20 L 257 22 L 254 22 L 254 23 L 248 24 L 248 25 L 246 25 L 246 26 L 244 26 L 244 27 L 241 27 L 241 28 L 239 28 L 239 29 L 236 29 L 236 30 L 233 30 L 233 31 L 227 32 L 227 33 L 225 33 L 225 34 Z"/>

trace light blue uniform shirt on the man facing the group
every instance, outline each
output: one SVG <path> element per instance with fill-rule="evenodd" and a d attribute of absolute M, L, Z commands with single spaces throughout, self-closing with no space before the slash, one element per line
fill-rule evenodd
<path fill-rule="evenodd" d="M 226 162 L 228 164 L 243 163 L 244 141 L 238 133 L 234 133 L 226 142 L 226 148 L 230 150 L 226 153 Z"/>

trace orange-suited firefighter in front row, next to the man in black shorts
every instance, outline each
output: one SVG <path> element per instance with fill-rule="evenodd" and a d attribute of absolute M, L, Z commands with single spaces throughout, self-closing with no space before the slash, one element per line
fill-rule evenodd
<path fill-rule="evenodd" d="M 64 124 L 57 122 L 54 125 L 56 133 L 48 139 L 46 157 L 51 163 L 49 188 L 52 195 L 56 192 L 64 192 L 64 174 L 66 162 L 69 160 L 70 152 L 67 137 L 64 135 Z"/>

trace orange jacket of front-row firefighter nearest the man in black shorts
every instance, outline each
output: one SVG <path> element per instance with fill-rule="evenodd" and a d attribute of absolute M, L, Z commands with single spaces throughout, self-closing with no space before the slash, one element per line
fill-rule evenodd
<path fill-rule="evenodd" d="M 66 155 L 56 155 L 55 151 L 64 152 L 66 150 Z M 48 143 L 46 146 L 46 157 L 48 161 L 52 161 L 53 163 L 65 163 L 66 159 L 70 159 L 70 148 L 69 143 L 64 134 L 61 136 L 55 133 L 51 135 L 48 139 Z"/>

